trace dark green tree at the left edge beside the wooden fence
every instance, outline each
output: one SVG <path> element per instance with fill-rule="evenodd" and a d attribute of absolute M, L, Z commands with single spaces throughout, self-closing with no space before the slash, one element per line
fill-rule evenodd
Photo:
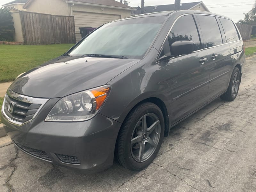
<path fill-rule="evenodd" d="M 0 8 L 0 41 L 12 41 L 15 29 L 12 15 L 7 8 Z"/>

